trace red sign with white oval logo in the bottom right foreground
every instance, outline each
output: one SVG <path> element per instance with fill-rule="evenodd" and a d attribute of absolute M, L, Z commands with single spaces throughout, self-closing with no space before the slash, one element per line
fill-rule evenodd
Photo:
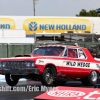
<path fill-rule="evenodd" d="M 38 96 L 35 100 L 100 100 L 100 89 L 56 87 Z"/>

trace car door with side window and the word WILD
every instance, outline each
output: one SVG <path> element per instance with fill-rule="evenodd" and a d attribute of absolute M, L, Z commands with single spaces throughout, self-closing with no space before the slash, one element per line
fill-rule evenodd
<path fill-rule="evenodd" d="M 62 73 L 68 78 L 76 78 L 80 75 L 80 70 L 77 68 L 77 50 L 77 48 L 66 48 L 63 55 Z"/>

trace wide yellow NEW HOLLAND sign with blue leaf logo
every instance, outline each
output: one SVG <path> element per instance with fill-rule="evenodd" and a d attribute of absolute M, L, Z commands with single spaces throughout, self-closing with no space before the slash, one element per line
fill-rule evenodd
<path fill-rule="evenodd" d="M 91 22 L 76 18 L 32 18 L 24 21 L 23 29 L 27 35 L 34 33 L 73 33 L 91 32 Z"/>

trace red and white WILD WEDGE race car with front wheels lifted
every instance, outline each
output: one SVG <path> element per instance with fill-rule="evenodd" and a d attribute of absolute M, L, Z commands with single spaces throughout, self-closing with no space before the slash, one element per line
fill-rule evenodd
<path fill-rule="evenodd" d="M 0 74 L 5 75 L 10 86 L 17 85 L 20 78 L 41 81 L 46 86 L 80 79 L 83 85 L 92 86 L 100 75 L 100 60 L 83 47 L 38 46 L 30 55 L 0 59 Z"/>

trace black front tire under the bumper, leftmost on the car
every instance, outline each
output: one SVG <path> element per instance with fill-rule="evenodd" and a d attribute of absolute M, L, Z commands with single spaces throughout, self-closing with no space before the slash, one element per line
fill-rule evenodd
<path fill-rule="evenodd" d="M 5 75 L 6 83 L 9 86 L 15 86 L 17 85 L 19 78 L 15 77 L 14 75 L 6 74 Z"/>

